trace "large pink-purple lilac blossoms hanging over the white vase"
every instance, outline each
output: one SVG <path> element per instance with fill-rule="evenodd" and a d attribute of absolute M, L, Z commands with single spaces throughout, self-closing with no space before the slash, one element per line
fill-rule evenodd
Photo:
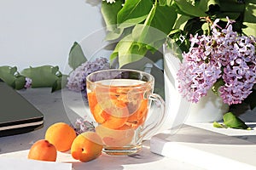
<path fill-rule="evenodd" d="M 190 37 L 189 53 L 183 54 L 177 72 L 178 90 L 184 98 L 196 103 L 222 78 L 220 97 L 229 105 L 239 104 L 252 93 L 256 82 L 256 40 L 232 31 L 233 21 L 229 20 L 221 31 L 217 23 L 215 20 L 211 36 Z"/>

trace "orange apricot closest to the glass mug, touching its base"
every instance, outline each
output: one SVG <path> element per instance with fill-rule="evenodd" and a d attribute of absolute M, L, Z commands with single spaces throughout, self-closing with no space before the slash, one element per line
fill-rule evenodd
<path fill-rule="evenodd" d="M 73 140 L 71 155 L 79 161 L 91 161 L 102 154 L 102 139 L 94 132 L 79 134 Z"/>

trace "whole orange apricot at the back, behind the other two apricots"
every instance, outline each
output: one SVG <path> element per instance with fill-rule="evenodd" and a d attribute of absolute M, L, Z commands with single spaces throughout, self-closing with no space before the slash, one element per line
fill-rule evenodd
<path fill-rule="evenodd" d="M 73 127 L 70 127 L 65 122 L 56 122 L 48 127 L 44 139 L 48 140 L 50 144 L 54 144 L 56 150 L 67 151 L 71 149 L 76 136 L 77 134 Z"/>

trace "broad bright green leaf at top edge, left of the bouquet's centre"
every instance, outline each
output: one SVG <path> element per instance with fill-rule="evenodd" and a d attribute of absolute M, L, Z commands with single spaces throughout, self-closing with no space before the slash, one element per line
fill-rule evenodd
<path fill-rule="evenodd" d="M 148 16 L 153 3 L 151 0 L 126 0 L 124 7 L 117 14 L 119 28 L 134 26 Z"/>

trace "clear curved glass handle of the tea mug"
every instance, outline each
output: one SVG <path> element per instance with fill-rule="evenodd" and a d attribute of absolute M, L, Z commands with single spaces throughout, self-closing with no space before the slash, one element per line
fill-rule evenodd
<path fill-rule="evenodd" d="M 155 108 L 150 108 L 152 111 L 150 117 L 148 118 L 151 118 L 152 116 L 157 118 L 154 119 L 152 123 L 147 124 L 149 120 L 145 122 L 145 127 L 141 132 L 140 141 L 143 141 L 143 139 L 150 139 L 154 134 L 158 133 L 160 127 L 166 119 L 166 104 L 164 99 L 162 99 L 159 94 L 148 94 L 148 99 L 154 102 L 154 107 L 160 109 L 160 111 L 158 111 L 160 114 L 155 114 Z"/>

